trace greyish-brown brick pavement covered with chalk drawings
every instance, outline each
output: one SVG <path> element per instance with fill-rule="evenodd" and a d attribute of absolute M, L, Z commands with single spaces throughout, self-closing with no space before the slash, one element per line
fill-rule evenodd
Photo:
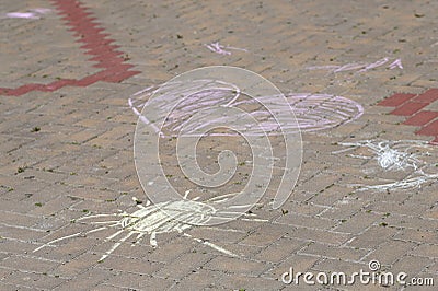
<path fill-rule="evenodd" d="M 408 189 L 358 190 L 351 185 L 402 179 L 415 171 L 408 167 L 403 177 L 384 173 L 374 159 L 354 156 L 372 156 L 365 148 L 334 153 L 345 150 L 343 142 L 436 139 L 437 101 L 415 98 L 438 88 L 437 3 L 0 4 L 1 13 L 35 8 L 51 12 L 41 19 L 0 19 L 0 289 L 288 290 L 292 287 L 281 283 L 280 276 L 289 267 L 351 273 L 367 270 L 370 259 L 378 259 L 383 270 L 431 277 L 438 283 L 436 179 Z M 216 54 L 205 46 L 214 42 L 247 51 Z M 389 61 L 362 70 L 382 58 Z M 388 67 L 395 59 L 403 69 Z M 323 68 L 351 63 L 359 69 Z M 158 234 L 157 248 L 149 235 L 135 245 L 129 238 L 100 261 L 118 242 L 107 240 L 117 230 L 90 232 L 96 225 L 81 218 L 131 213 L 138 209 L 132 197 L 147 200 L 135 172 L 137 118 L 128 96 L 210 65 L 253 70 L 284 92 L 348 97 L 365 114 L 336 128 L 303 133 L 301 175 L 281 209 L 272 210 L 267 197 L 252 210 L 254 219 L 192 228 L 185 231 L 192 237 Z M 227 144 L 244 155 L 237 141 Z M 223 144 L 212 146 L 217 151 Z M 436 174 L 437 147 L 416 151 L 428 152 L 418 158 L 427 162 L 422 170 Z M 173 182 L 186 187 L 178 176 Z M 239 179 L 233 183 L 239 187 Z M 64 236 L 70 237 L 33 252 Z M 300 286 L 338 288 L 374 289 Z"/>

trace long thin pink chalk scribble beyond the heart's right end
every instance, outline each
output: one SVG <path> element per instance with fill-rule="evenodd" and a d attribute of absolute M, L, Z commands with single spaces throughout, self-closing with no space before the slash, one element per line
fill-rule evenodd
<path fill-rule="evenodd" d="M 351 62 L 351 63 L 346 63 L 343 66 L 335 66 L 335 65 L 330 65 L 330 66 L 312 66 L 312 67 L 307 67 L 308 70 L 327 70 L 332 73 L 338 73 L 338 72 L 346 72 L 346 71 L 356 71 L 356 73 L 364 73 L 369 70 L 382 67 L 387 65 L 390 61 L 388 57 L 384 57 L 382 59 L 379 59 L 374 62 L 368 63 L 368 62 Z M 395 68 L 403 69 L 402 60 L 401 59 L 395 59 L 392 61 L 390 65 L 387 66 L 388 69 L 393 70 Z"/>

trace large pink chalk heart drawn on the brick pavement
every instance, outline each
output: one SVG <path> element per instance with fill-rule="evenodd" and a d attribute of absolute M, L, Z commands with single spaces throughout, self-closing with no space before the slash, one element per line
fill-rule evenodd
<path fill-rule="evenodd" d="M 208 90 L 205 90 L 206 83 L 208 83 Z M 172 112 L 175 104 L 169 103 L 168 98 L 170 95 L 178 94 L 177 83 L 166 83 L 165 91 L 166 94 L 160 95 L 160 103 L 163 108 Z M 185 85 L 186 88 L 187 85 Z M 143 106 L 147 106 L 147 101 L 151 97 L 160 86 L 150 86 L 141 90 L 134 94 L 128 100 L 128 105 L 132 112 L 139 116 L 139 118 L 146 123 L 150 124 L 149 120 L 140 114 Z M 184 102 L 180 103 L 177 110 L 172 113 L 169 123 L 166 123 L 168 135 L 176 136 L 182 127 L 185 127 L 189 132 L 195 132 L 197 126 L 196 120 L 191 119 L 193 113 L 205 109 L 214 105 L 224 104 L 228 107 L 237 108 L 247 108 L 255 107 L 257 102 L 254 98 L 240 98 L 241 93 L 239 88 L 230 83 L 218 82 L 214 80 L 203 80 L 199 82 L 194 82 L 191 90 L 196 91 L 196 89 L 203 89 L 204 91 L 199 93 L 192 94 L 191 98 L 186 98 Z M 298 120 L 290 120 L 290 123 L 283 125 L 279 128 L 275 117 L 266 110 L 262 104 L 275 103 L 277 96 L 261 96 L 258 97 L 261 106 L 257 109 L 253 109 L 250 114 L 260 120 L 260 125 L 264 132 L 270 136 L 281 135 L 281 130 L 285 132 L 297 132 L 297 131 L 316 131 L 326 128 L 333 128 L 347 124 L 351 120 L 359 118 L 364 114 L 364 108 L 360 104 L 342 96 L 331 95 L 331 94 L 310 94 L 310 93 L 289 93 L 285 94 L 289 104 L 278 106 L 287 106 L 285 110 L 293 110 L 295 117 Z M 170 98 L 171 100 L 171 98 Z M 290 106 L 290 107 L 289 107 Z M 239 119 L 242 116 L 233 116 L 233 118 Z M 187 125 L 186 121 L 193 121 L 193 126 Z M 214 121 L 214 120 L 212 120 Z M 232 123 L 232 120 L 230 120 Z M 260 132 L 260 128 L 249 127 L 249 135 L 261 136 L 264 132 Z M 230 133 L 214 133 L 214 135 L 235 135 Z M 161 132 L 162 137 L 165 137 Z"/>

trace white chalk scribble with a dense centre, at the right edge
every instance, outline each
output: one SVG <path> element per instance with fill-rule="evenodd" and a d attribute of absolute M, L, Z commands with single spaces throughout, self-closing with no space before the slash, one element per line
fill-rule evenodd
<path fill-rule="evenodd" d="M 357 187 L 357 191 L 378 190 L 388 191 L 394 189 L 412 189 L 419 188 L 428 182 L 436 182 L 438 174 L 427 173 L 428 164 L 422 158 L 430 156 L 428 150 L 433 150 L 430 144 L 420 140 L 365 140 L 358 142 L 343 142 L 339 146 L 348 147 L 332 153 L 339 154 L 358 148 L 367 148 L 371 155 L 348 154 L 350 158 L 376 160 L 378 166 L 383 172 L 411 172 L 401 181 L 384 179 L 388 183 L 378 185 L 351 184 Z M 428 171 L 430 172 L 430 171 Z M 382 178 L 380 178 L 382 179 Z"/>

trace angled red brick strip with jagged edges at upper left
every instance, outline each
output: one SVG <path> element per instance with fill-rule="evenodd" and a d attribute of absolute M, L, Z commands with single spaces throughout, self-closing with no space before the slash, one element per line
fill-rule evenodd
<path fill-rule="evenodd" d="M 66 21 L 68 31 L 78 37 L 77 43 L 81 46 L 84 55 L 91 56 L 90 61 L 94 68 L 102 68 L 102 71 L 85 75 L 81 79 L 60 79 L 49 84 L 24 84 L 15 89 L 0 88 L 0 95 L 21 96 L 32 91 L 53 92 L 66 85 L 88 86 L 97 81 L 119 83 L 140 71 L 129 71 L 132 65 L 123 63 L 125 59 L 120 57 L 123 51 L 117 50 L 119 46 L 114 45 L 114 39 L 108 38 L 110 34 L 104 33 L 104 28 L 99 27 L 96 18 L 79 0 L 50 0 L 56 7 L 57 13 Z"/>

